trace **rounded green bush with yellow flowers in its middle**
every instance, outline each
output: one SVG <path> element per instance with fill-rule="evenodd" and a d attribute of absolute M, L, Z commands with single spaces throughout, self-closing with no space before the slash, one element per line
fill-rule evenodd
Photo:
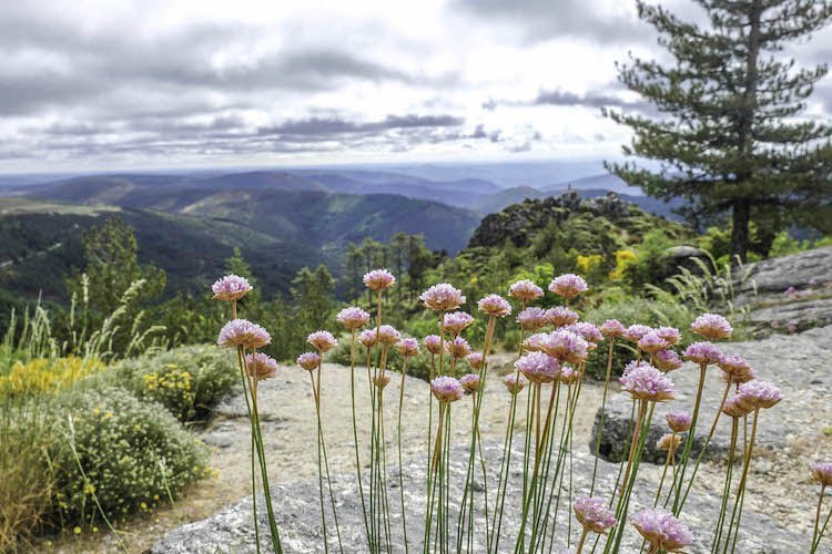
<path fill-rule="evenodd" d="M 113 384 L 159 402 L 181 421 L 205 419 L 240 382 L 234 355 L 204 345 L 124 360 L 108 373 Z"/>

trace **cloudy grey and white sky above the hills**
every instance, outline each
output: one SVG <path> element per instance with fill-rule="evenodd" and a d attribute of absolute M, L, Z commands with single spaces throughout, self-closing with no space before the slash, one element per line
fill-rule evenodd
<path fill-rule="evenodd" d="M 609 158 L 628 53 L 666 55 L 629 0 L 8 0 L 0 172 Z"/>

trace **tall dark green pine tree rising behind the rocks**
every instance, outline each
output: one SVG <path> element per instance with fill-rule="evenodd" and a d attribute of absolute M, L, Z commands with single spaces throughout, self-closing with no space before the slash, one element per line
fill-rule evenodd
<path fill-rule="evenodd" d="M 662 199 L 684 197 L 694 223 L 731 212 L 731 253 L 745 260 L 749 223 L 802 222 L 826 230 L 832 218 L 832 126 L 800 119 L 826 65 L 795 69 L 778 59 L 832 19 L 821 0 L 696 0 L 709 25 L 681 21 L 639 0 L 639 18 L 659 32 L 672 64 L 631 58 L 619 80 L 661 115 L 605 111 L 633 131 L 626 155 L 660 171 L 607 164 Z"/>

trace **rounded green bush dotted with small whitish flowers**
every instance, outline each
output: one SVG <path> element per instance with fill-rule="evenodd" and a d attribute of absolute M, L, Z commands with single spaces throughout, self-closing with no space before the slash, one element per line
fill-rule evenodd
<path fill-rule="evenodd" d="M 94 384 L 60 397 L 53 412 L 60 418 L 50 433 L 54 502 L 49 520 L 63 527 L 101 521 L 93 493 L 113 521 L 165 502 L 169 490 L 175 496 L 210 472 L 204 447 L 161 406 Z"/>

